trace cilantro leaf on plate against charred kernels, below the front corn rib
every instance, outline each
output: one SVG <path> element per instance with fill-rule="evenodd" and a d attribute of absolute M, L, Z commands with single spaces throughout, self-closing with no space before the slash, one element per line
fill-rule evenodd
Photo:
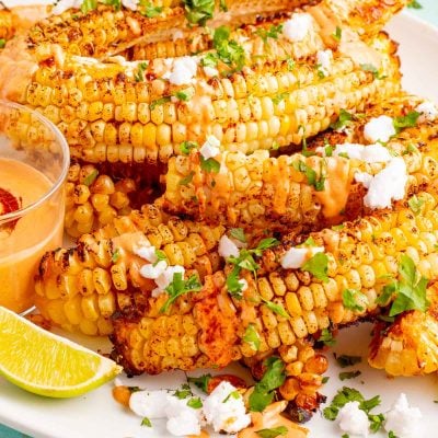
<path fill-rule="evenodd" d="M 275 390 L 286 380 L 285 362 L 275 356 L 265 360 L 267 367 L 263 378 L 254 387 L 250 395 L 250 411 L 262 412 L 274 400 Z"/>

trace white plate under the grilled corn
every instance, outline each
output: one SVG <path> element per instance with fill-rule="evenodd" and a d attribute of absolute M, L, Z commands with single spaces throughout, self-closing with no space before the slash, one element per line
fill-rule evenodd
<path fill-rule="evenodd" d="M 389 26 L 392 36 L 401 43 L 404 83 L 407 90 L 438 102 L 438 30 L 402 14 Z M 339 354 L 360 355 L 367 357 L 370 326 L 364 324 L 359 328 L 349 328 L 341 333 L 336 350 Z M 76 338 L 77 341 L 97 348 L 96 341 Z M 93 345 L 94 343 L 94 345 Z M 100 345 L 103 351 L 110 350 L 110 345 Z M 332 355 L 330 355 L 333 359 Z M 235 368 L 237 369 L 237 368 Z M 233 369 L 233 372 L 234 370 Z M 405 392 L 413 405 L 420 407 L 424 422 L 423 433 L 428 437 L 438 436 L 437 404 L 438 381 L 434 377 L 410 379 L 388 379 L 383 372 L 370 369 L 366 359 L 353 369 L 360 369 L 362 374 L 354 380 L 341 382 L 337 378 L 341 369 L 331 365 L 331 379 L 324 387 L 324 393 L 332 399 L 336 390 L 344 384 L 356 387 L 366 397 L 380 394 L 381 408 L 384 412 L 393 400 Z M 241 376 L 245 371 L 239 370 Z M 200 372 L 199 372 L 200 373 Z M 142 376 L 129 380 L 130 385 L 148 389 L 175 388 L 185 381 L 182 372 L 165 373 L 159 377 Z M 0 379 L 0 423 L 32 435 L 35 438 L 128 438 L 160 437 L 168 435 L 163 425 L 154 423 L 153 430 L 140 427 L 140 418 L 124 410 L 112 399 L 112 384 L 106 384 L 84 396 L 72 400 L 50 400 L 28 394 Z M 308 424 L 310 436 L 315 438 L 338 438 L 342 434 L 331 422 L 316 414 Z M 433 428 L 436 428 L 436 431 Z M 427 434 L 426 434 L 427 433 Z M 383 434 L 376 435 L 381 438 Z"/>

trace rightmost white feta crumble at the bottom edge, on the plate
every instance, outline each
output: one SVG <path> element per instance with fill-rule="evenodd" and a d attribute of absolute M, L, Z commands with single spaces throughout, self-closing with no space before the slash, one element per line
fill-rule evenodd
<path fill-rule="evenodd" d="M 397 438 L 418 437 L 418 422 L 423 415 L 418 407 L 410 407 L 405 394 L 400 394 L 385 415 L 384 428 L 392 430 Z"/>

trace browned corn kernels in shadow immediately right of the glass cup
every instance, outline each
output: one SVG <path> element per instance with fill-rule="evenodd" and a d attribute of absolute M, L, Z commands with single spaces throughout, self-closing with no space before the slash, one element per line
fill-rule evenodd
<path fill-rule="evenodd" d="M 66 231 L 72 238 L 95 231 L 117 216 L 130 212 L 129 194 L 136 191 L 130 178 L 114 182 L 91 165 L 73 164 L 66 184 Z"/>

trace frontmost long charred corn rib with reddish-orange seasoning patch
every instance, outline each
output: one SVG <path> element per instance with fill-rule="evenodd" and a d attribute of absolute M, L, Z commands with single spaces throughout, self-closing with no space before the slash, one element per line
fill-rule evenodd
<path fill-rule="evenodd" d="M 281 269 L 287 246 L 279 246 L 263 253 L 256 277 L 241 269 L 247 285 L 241 299 L 228 291 L 232 266 L 207 276 L 199 292 L 182 295 L 168 308 L 168 293 L 149 297 L 140 315 L 116 318 L 115 356 L 131 373 L 222 367 L 270 349 L 288 361 L 297 339 L 378 313 L 377 298 L 388 276 L 397 275 L 401 254 L 420 275 L 437 277 L 437 198 L 418 196 L 424 203 L 416 214 L 400 203 L 341 230 L 311 233 L 324 249 L 324 281 L 308 270 Z M 356 307 L 345 304 L 345 290 L 357 291 Z"/>

